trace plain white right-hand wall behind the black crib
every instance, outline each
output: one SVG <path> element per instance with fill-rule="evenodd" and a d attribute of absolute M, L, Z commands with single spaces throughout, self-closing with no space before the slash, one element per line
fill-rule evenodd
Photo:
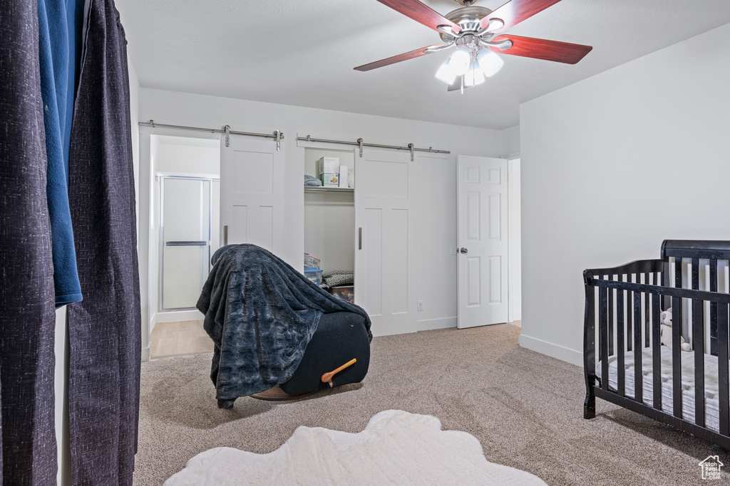
<path fill-rule="evenodd" d="M 520 345 L 582 364 L 586 268 L 730 240 L 730 25 L 520 106 Z"/>

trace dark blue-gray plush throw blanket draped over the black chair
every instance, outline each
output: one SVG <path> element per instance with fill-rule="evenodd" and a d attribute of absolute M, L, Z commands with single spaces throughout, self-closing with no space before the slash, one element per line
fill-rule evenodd
<path fill-rule="evenodd" d="M 363 315 L 372 340 L 361 307 L 331 296 L 264 248 L 228 245 L 213 259 L 196 307 L 215 343 L 210 379 L 218 407 L 288 380 L 323 313 Z"/>

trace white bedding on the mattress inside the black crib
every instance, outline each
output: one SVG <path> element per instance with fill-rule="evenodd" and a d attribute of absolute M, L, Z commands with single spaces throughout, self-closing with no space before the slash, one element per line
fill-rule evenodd
<path fill-rule="evenodd" d="M 682 355 L 682 416 L 694 423 L 694 352 L 683 351 Z M 634 398 L 634 351 L 624 357 L 626 369 L 626 396 Z M 608 358 L 609 386 L 618 390 L 618 356 Z M 596 375 L 601 376 L 601 361 L 596 367 Z M 651 348 L 642 351 L 642 389 L 644 404 L 653 407 L 654 373 Z M 704 406 L 705 427 L 711 431 L 720 429 L 720 406 L 718 401 L 718 357 L 704 355 Z M 661 409 L 672 414 L 672 350 L 661 346 Z"/>

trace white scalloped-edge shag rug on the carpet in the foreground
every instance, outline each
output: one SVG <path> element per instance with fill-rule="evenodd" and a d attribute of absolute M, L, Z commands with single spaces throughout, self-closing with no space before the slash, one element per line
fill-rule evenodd
<path fill-rule="evenodd" d="M 442 431 L 439 419 L 402 410 L 374 415 L 358 434 L 301 426 L 269 454 L 216 447 L 188 460 L 165 485 L 547 486 L 488 462 L 472 434 Z"/>

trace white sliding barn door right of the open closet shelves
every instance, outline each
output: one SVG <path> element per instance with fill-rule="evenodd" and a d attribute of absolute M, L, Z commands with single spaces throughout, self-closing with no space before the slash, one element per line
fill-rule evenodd
<path fill-rule="evenodd" d="M 414 162 L 410 152 L 366 149 L 355 175 L 355 302 L 375 336 L 415 332 Z"/>

